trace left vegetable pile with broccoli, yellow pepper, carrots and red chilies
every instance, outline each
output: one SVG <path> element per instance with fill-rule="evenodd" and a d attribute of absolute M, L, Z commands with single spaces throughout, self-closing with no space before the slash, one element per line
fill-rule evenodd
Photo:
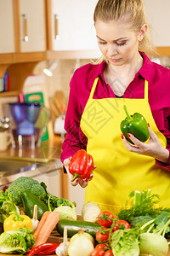
<path fill-rule="evenodd" d="M 31 177 L 19 177 L 0 193 L 0 253 L 55 253 L 59 244 L 47 243 L 48 237 L 59 219 L 77 219 L 75 203 L 50 194 Z"/>

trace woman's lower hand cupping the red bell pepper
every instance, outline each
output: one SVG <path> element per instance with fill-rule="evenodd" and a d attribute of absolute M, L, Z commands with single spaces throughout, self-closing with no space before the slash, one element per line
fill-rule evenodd
<path fill-rule="evenodd" d="M 71 180 L 74 176 L 69 172 L 69 165 L 71 163 L 71 159 L 72 159 L 72 157 L 69 157 L 69 158 L 64 160 L 65 170 L 68 174 L 71 185 L 72 186 L 77 186 L 77 184 L 79 184 L 82 188 L 86 188 L 88 186 L 88 182 L 93 179 L 94 174 L 90 174 L 90 176 L 88 178 L 84 178 L 84 179 L 82 179 L 81 177 L 77 177 L 76 180 L 74 180 L 72 182 Z M 95 168 L 95 166 L 94 166 L 94 168 Z"/>

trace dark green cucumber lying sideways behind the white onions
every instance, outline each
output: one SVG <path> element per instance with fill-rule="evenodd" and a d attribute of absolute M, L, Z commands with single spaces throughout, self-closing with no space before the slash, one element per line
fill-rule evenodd
<path fill-rule="evenodd" d="M 59 223 L 57 224 L 57 231 L 59 232 L 59 235 L 63 236 L 65 226 L 67 226 L 68 237 L 77 234 L 77 232 L 82 229 L 88 234 L 94 236 L 95 238 L 97 231 L 101 228 L 101 226 L 98 223 L 62 219 L 59 220 Z"/>

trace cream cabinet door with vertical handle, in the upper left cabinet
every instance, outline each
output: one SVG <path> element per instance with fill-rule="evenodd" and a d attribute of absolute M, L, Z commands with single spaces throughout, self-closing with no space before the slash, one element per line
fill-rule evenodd
<path fill-rule="evenodd" d="M 20 0 L 20 51 L 44 51 L 45 10 L 44 0 Z"/>

